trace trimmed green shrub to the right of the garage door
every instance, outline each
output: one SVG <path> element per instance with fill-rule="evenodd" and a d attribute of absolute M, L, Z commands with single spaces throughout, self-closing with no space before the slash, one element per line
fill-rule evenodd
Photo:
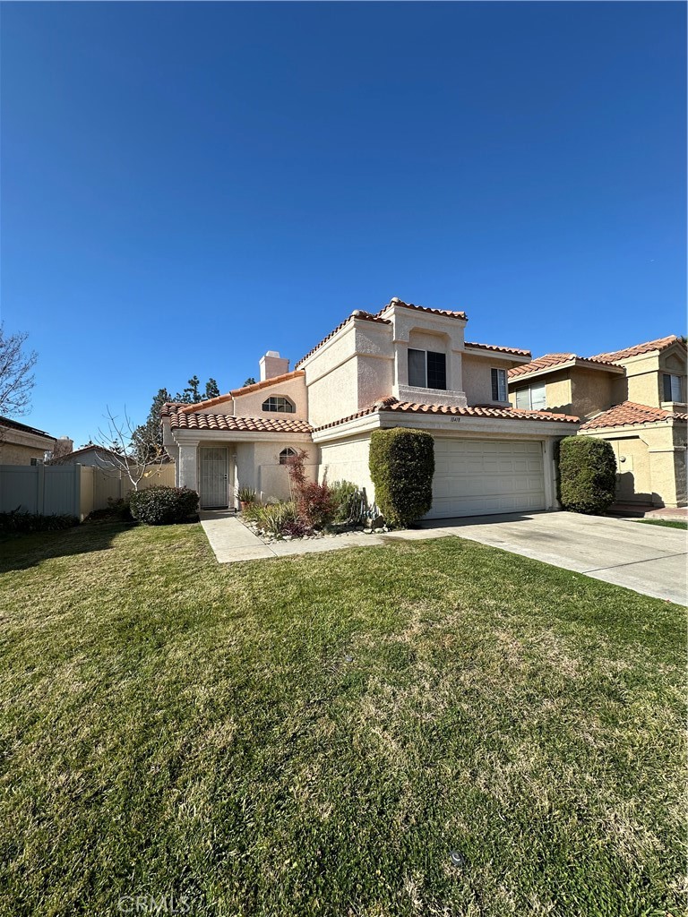
<path fill-rule="evenodd" d="M 562 439 L 559 475 L 561 505 L 572 513 L 604 513 L 616 499 L 616 458 L 605 439 Z"/>

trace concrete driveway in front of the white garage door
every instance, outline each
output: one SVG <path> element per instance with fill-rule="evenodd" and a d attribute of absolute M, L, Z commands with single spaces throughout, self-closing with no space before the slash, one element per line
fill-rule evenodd
<path fill-rule="evenodd" d="M 471 538 L 658 599 L 687 602 L 688 532 L 627 519 L 534 513 L 437 519 L 414 533 Z M 410 534 L 410 533 L 409 533 Z"/>

